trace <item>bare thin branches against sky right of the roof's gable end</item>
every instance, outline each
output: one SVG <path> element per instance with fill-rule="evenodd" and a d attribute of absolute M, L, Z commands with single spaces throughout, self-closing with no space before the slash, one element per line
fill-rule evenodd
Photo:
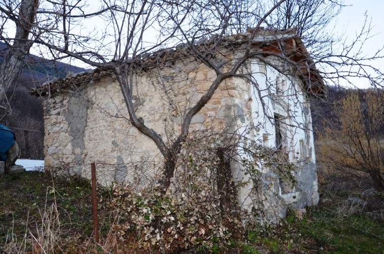
<path fill-rule="evenodd" d="M 295 27 L 328 85 L 355 86 L 360 79 L 368 79 L 372 86 L 382 88 L 384 74 L 372 61 L 383 57 L 383 47 L 372 55 L 364 52 L 375 33 L 374 24 L 366 15 L 355 36 L 337 34 L 335 24 L 344 7 L 342 0 L 286 0 L 270 16 L 268 26 Z"/>

